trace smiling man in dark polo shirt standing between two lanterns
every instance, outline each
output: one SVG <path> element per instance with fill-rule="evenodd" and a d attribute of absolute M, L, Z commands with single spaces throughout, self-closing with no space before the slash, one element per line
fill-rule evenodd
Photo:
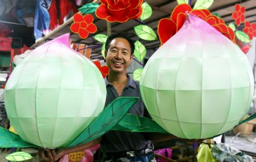
<path fill-rule="evenodd" d="M 125 35 L 110 35 L 106 40 L 105 48 L 106 64 L 109 67 L 109 74 L 105 78 L 107 90 L 105 105 L 121 96 L 135 96 L 139 97 L 139 100 L 131 107 L 129 113 L 146 115 L 147 111 L 139 92 L 139 83 L 126 74 L 126 69 L 133 60 L 134 41 Z M 171 138 L 170 135 L 167 136 L 167 139 L 174 138 L 174 136 L 171 136 Z M 40 149 L 39 153 L 46 161 L 56 161 L 65 154 L 90 148 L 100 142 L 102 151 L 106 153 L 106 160 L 108 161 L 155 161 L 151 141 L 146 139 L 142 133 L 125 131 L 109 131 L 102 138 L 80 146 L 57 152 L 54 149 L 47 149 L 46 151 Z"/>

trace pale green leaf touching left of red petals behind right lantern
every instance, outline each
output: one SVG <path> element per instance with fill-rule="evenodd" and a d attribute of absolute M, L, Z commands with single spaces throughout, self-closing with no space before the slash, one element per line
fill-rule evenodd
<path fill-rule="evenodd" d="M 136 34 L 139 36 L 139 38 L 144 40 L 156 40 L 158 39 L 156 37 L 156 34 L 154 30 L 152 30 L 151 27 L 145 26 L 145 25 L 138 25 L 134 27 L 134 30 Z"/>

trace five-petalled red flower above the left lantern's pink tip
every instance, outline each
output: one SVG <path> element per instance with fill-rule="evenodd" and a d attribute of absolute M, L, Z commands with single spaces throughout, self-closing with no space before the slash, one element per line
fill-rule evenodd
<path fill-rule="evenodd" d="M 84 15 L 75 14 L 73 16 L 74 23 L 71 24 L 71 31 L 78 33 L 82 39 L 88 37 L 89 32 L 94 33 L 97 31 L 97 27 L 93 24 L 93 16 L 92 15 Z"/>

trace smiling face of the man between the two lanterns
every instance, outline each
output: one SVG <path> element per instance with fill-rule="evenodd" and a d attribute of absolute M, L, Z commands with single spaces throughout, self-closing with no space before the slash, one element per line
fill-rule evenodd
<path fill-rule="evenodd" d="M 129 41 L 123 38 L 115 38 L 109 44 L 109 49 L 106 51 L 106 64 L 110 72 L 126 73 L 126 68 L 129 67 L 133 59 Z"/>

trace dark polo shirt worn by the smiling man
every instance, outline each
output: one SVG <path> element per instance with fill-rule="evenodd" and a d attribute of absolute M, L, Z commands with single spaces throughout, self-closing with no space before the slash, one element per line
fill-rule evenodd
<path fill-rule="evenodd" d="M 147 110 L 142 101 L 139 82 L 132 80 L 128 75 L 128 81 L 123 89 L 123 97 L 139 97 L 139 100 L 129 110 L 129 113 L 144 116 Z M 108 81 L 108 76 L 105 78 L 106 84 L 106 102 L 105 106 L 118 98 L 118 93 L 114 86 Z M 104 152 L 123 152 L 123 151 L 139 151 L 146 148 L 152 148 L 150 140 L 144 138 L 142 133 L 128 131 L 109 131 L 102 136 L 101 148 Z"/>

